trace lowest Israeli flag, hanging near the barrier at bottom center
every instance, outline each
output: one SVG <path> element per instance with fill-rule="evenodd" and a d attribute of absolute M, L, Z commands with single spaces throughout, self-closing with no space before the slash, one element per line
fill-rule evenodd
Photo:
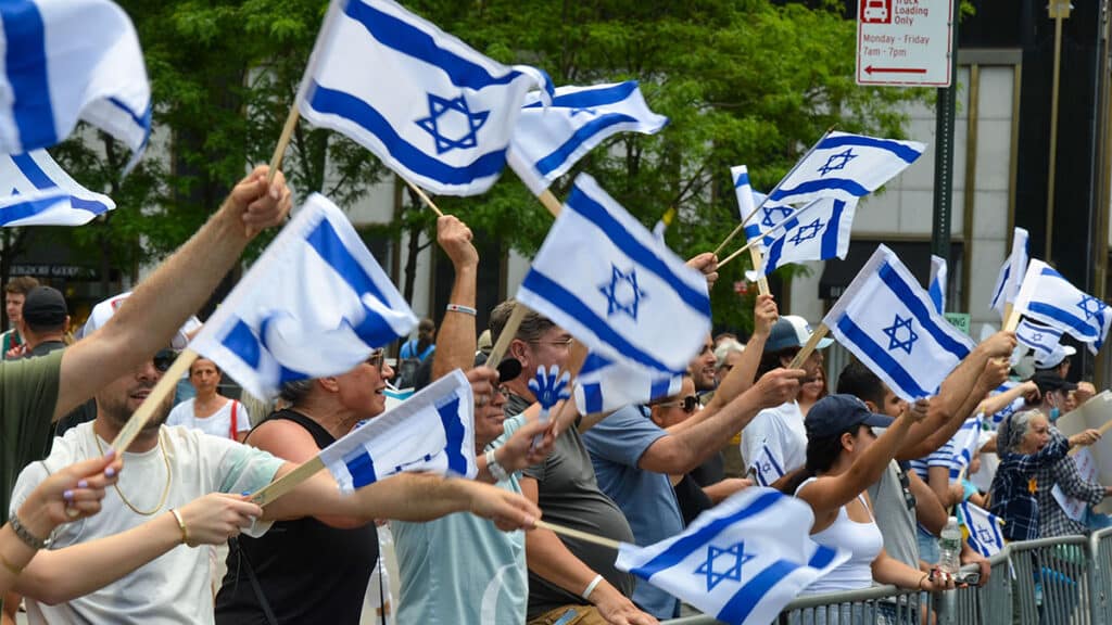
<path fill-rule="evenodd" d="M 811 539 L 811 506 L 772 488 L 746 488 L 683 534 L 636 547 L 615 566 L 724 623 L 766 625 L 815 579 L 846 562 Z"/>

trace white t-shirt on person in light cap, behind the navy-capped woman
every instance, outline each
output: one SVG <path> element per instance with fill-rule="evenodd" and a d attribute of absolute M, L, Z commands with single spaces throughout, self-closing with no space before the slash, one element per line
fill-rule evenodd
<path fill-rule="evenodd" d="M 770 455 L 781 475 L 806 464 L 807 429 L 803 425 L 798 403 L 792 400 L 775 408 L 765 408 L 742 430 L 742 458 L 746 470 Z"/>

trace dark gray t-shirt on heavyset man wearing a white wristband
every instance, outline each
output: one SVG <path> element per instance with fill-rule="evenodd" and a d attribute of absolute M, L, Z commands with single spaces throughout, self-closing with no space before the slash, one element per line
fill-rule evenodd
<path fill-rule="evenodd" d="M 529 404 L 520 397 L 510 396 L 506 403 L 505 434 L 509 437 L 522 427 L 525 417 L 515 416 Z M 609 497 L 598 488 L 595 468 L 583 445 L 579 430 L 572 427 L 560 434 L 545 462 L 525 469 L 525 475 L 537 480 L 538 504 L 545 520 L 606 538 L 634 544 L 633 530 L 625 515 Z M 560 536 L 560 540 L 577 558 L 606 578 L 625 596 L 632 596 L 634 577 L 614 567 L 613 549 L 590 543 Z M 562 605 L 583 605 L 583 597 L 568 593 L 559 586 L 529 572 L 529 618 L 556 609 Z"/>

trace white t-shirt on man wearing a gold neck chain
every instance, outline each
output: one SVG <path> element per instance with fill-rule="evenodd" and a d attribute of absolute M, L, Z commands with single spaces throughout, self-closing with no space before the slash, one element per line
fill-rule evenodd
<path fill-rule="evenodd" d="M 90 421 L 56 438 L 50 457 L 28 465 L 19 475 L 11 509 L 19 508 L 31 490 L 46 479 L 48 472 L 101 455 L 95 436 Z M 162 497 L 168 459 L 170 489 L 158 512 L 150 516 L 138 515 L 120 500 L 116 488 L 109 487 L 100 513 L 59 526 L 51 536 L 49 548 L 62 549 L 119 534 L 209 493 L 256 490 L 269 484 L 282 465 L 281 459 L 266 452 L 181 427 L 163 426 L 160 443 L 150 452 L 123 454 L 123 470 L 117 484 L 131 505 L 150 510 Z M 101 440 L 100 447 L 107 450 L 109 443 Z M 256 523 L 247 533 L 260 536 L 269 527 L 268 523 Z M 72 574 L 82 575 L 80 571 Z M 27 597 L 28 622 L 210 624 L 215 616 L 209 577 L 209 550 L 178 545 L 130 575 L 68 603 L 51 606 Z"/>

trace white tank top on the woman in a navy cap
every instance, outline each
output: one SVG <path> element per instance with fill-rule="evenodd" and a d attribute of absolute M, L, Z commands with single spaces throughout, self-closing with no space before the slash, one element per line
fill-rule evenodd
<path fill-rule="evenodd" d="M 798 495 L 804 486 L 815 479 L 817 478 L 807 478 L 795 489 L 795 494 Z M 824 547 L 842 548 L 850 552 L 850 559 L 831 571 L 825 577 L 816 579 L 801 594 L 816 595 L 818 593 L 857 591 L 873 585 L 872 564 L 884 547 L 884 537 L 881 536 L 881 528 L 876 526 L 876 519 L 873 518 L 873 513 L 868 509 L 868 503 L 864 495 L 857 495 L 857 499 L 868 513 L 868 523 L 853 520 L 846 513 L 845 506 L 842 506 L 830 527 L 811 535 L 811 539 Z"/>

